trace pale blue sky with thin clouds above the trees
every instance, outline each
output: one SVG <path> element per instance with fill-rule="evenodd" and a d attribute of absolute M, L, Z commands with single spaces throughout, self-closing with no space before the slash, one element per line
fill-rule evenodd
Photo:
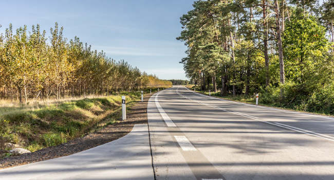
<path fill-rule="evenodd" d="M 183 65 L 187 47 L 177 41 L 180 17 L 194 0 L 0 0 L 0 33 L 40 24 L 50 36 L 58 22 L 68 40 L 76 36 L 91 49 L 116 61 L 127 61 L 159 79 L 186 80 Z"/>

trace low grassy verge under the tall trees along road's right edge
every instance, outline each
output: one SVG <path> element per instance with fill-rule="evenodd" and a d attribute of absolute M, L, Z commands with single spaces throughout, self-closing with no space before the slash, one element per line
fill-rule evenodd
<path fill-rule="evenodd" d="M 199 86 L 187 86 L 187 87 L 189 89 L 192 89 L 193 91 L 196 88 L 196 92 L 197 93 L 209 95 L 208 91 L 205 91 L 205 92 L 199 91 L 200 90 Z M 211 92 L 211 96 L 222 98 L 222 99 L 228 99 L 228 100 L 232 100 L 232 101 L 245 102 L 245 103 L 249 103 L 249 104 L 255 104 L 255 101 L 256 101 L 256 95 L 248 95 L 248 96 L 245 96 L 245 95 L 231 96 L 230 95 L 230 96 L 224 96 L 224 97 L 222 97 L 220 95 L 220 92 L 216 92 L 216 93 Z M 329 111 L 325 111 L 325 110 L 323 110 L 321 108 L 310 108 L 310 106 L 312 104 L 308 104 L 309 105 L 308 109 L 303 109 L 303 108 L 301 108 L 301 104 L 297 104 L 297 103 L 281 103 L 281 102 L 279 102 L 279 100 L 273 101 L 272 100 L 272 96 L 273 95 L 269 96 L 267 94 L 261 94 L 261 93 L 259 93 L 258 105 L 269 106 L 269 107 L 276 107 L 276 108 L 280 108 L 280 109 L 294 110 L 294 111 L 300 111 L 300 112 L 309 112 L 309 113 L 320 114 L 320 115 L 327 115 L 327 116 L 328 115 L 330 115 L 330 116 L 334 115 L 334 112 L 332 112 L 332 111 L 330 113 Z M 270 99 L 270 101 L 268 99 Z M 320 106 L 320 105 L 318 105 L 318 106 Z"/>

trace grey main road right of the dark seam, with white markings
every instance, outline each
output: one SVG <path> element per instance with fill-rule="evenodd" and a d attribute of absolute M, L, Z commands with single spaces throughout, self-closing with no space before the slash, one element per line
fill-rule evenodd
<path fill-rule="evenodd" d="M 152 96 L 147 115 L 156 179 L 334 179 L 334 118 L 181 86 Z"/>

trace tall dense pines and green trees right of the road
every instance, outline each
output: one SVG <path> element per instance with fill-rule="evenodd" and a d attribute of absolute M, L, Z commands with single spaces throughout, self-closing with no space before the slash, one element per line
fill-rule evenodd
<path fill-rule="evenodd" d="M 180 18 L 184 70 L 202 90 L 334 114 L 334 1 L 196 1 Z"/>

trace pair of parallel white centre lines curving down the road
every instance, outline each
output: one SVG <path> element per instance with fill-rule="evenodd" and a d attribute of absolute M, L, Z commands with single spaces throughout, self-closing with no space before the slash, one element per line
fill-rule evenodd
<path fill-rule="evenodd" d="M 290 125 L 285 125 L 285 124 L 281 124 L 281 123 L 278 123 L 278 122 L 272 123 L 272 122 L 268 122 L 268 121 L 263 121 L 263 120 L 258 119 L 257 117 L 254 117 L 254 116 L 250 116 L 250 115 L 243 114 L 243 113 L 238 113 L 238 112 L 228 111 L 228 110 L 222 109 L 221 107 L 217 107 L 217 106 L 213 106 L 213 105 L 210 105 L 210 104 L 207 104 L 207 103 L 199 102 L 197 100 L 193 100 L 189 97 L 181 95 L 178 91 L 178 88 L 176 89 L 176 93 L 183 98 L 189 99 L 191 101 L 195 101 L 197 103 L 200 103 L 200 104 L 203 104 L 203 105 L 206 105 L 206 106 L 209 106 L 209 107 L 213 107 L 213 108 L 218 109 L 218 110 L 222 110 L 222 111 L 225 111 L 225 112 L 228 112 L 228 113 L 233 113 L 233 114 L 236 114 L 236 115 L 239 115 L 239 116 L 244 116 L 244 117 L 247 117 L 247 118 L 250 118 L 250 119 L 254 119 L 254 120 L 257 120 L 257 121 L 261 121 L 261 122 L 264 122 L 264 123 L 267 123 L 267 124 L 274 125 L 276 127 L 281 127 L 281 128 L 289 129 L 289 130 L 296 131 L 296 132 L 299 132 L 299 133 L 304 133 L 304 134 L 308 134 L 308 135 L 311 135 L 311 136 L 315 136 L 315 137 L 323 138 L 323 139 L 326 139 L 326 140 L 334 141 L 334 138 L 332 138 L 330 136 L 327 136 L 327 135 L 324 135 L 324 134 L 320 134 L 320 133 L 316 133 L 316 132 L 312 132 L 312 131 L 308 131 L 308 130 L 303 130 L 303 129 L 300 129 L 300 128 L 291 127 Z M 326 137 L 329 137 L 329 138 L 326 138 Z"/>

